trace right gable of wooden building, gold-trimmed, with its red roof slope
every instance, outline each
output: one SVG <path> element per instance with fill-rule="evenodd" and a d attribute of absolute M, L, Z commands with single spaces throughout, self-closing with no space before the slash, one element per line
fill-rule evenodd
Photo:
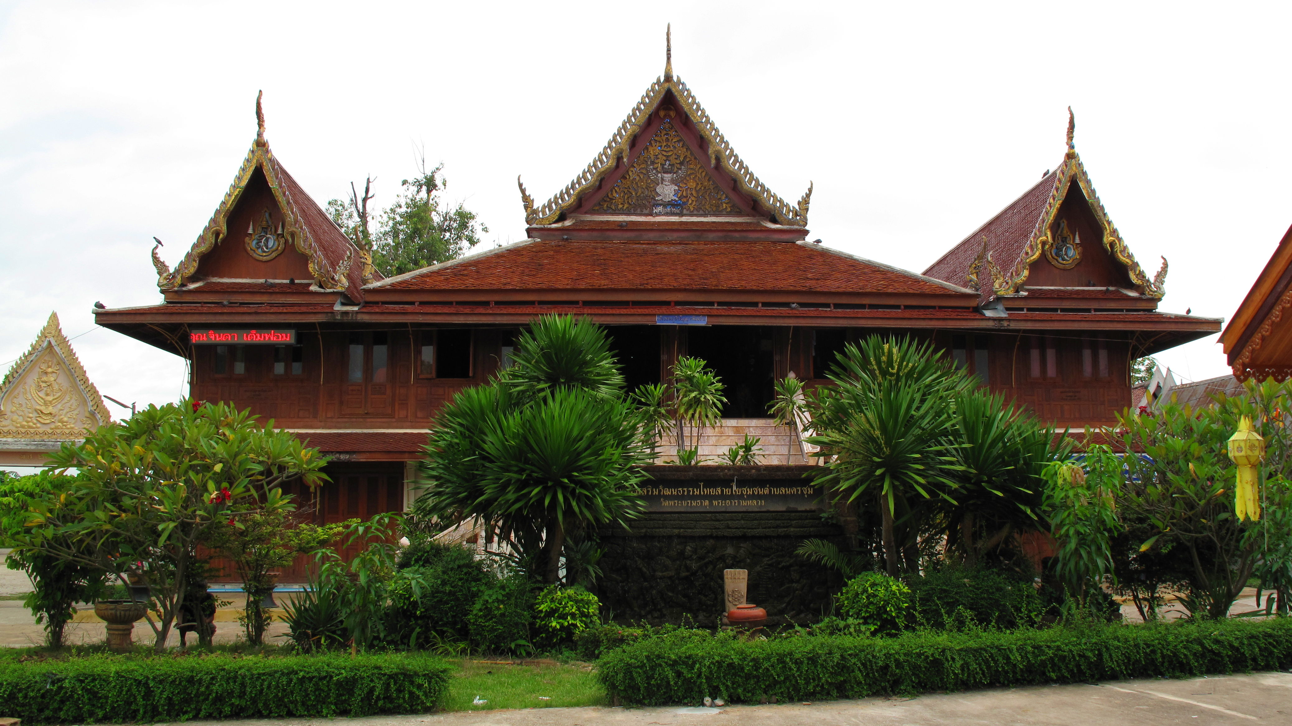
<path fill-rule="evenodd" d="M 1098 249 L 1102 249 L 1115 273 L 1124 275 L 1141 295 L 1162 298 L 1165 293 L 1167 258 L 1162 258 L 1162 269 L 1151 279 L 1140 267 L 1094 192 L 1072 141 L 1075 128 L 1068 109 L 1067 152 L 1059 167 L 924 274 L 953 284 L 969 284 L 990 298 L 1017 295 L 1025 283 L 1050 285 L 1057 276 L 1050 269 L 1072 270 L 1083 256 L 1093 262 L 1102 254 Z M 1044 273 L 1035 269 L 1043 257 Z M 992 270 L 990 284 L 982 275 L 985 270 Z M 1037 282 L 1036 276 L 1052 279 Z M 1079 280 L 1059 287 L 1085 284 Z"/>

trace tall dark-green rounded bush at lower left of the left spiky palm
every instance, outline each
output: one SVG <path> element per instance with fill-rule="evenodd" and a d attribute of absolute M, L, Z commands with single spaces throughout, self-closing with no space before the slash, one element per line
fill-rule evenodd
<path fill-rule="evenodd" d="M 432 634 L 465 638 L 475 598 L 492 576 L 475 554 L 461 546 L 444 548 L 437 557 L 395 572 L 390 583 L 388 632 L 401 645 L 420 645 Z M 419 586 L 413 586 L 420 576 Z"/>

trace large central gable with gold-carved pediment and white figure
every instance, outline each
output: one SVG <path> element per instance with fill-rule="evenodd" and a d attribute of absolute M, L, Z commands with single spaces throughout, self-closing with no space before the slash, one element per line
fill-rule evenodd
<path fill-rule="evenodd" d="M 519 185 L 527 223 L 553 225 L 584 212 L 742 216 L 808 226 L 811 186 L 792 205 L 758 181 L 686 84 L 673 76 L 672 53 L 669 41 L 664 75 L 574 181 L 537 207 Z M 642 134 L 649 134 L 646 143 L 640 143 Z"/>

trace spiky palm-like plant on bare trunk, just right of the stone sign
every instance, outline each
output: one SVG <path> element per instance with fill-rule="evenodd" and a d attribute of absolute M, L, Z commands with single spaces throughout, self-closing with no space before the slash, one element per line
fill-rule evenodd
<path fill-rule="evenodd" d="M 836 500 L 875 497 L 890 575 L 898 574 L 894 517 L 911 497 L 953 503 L 953 406 L 970 384 L 928 342 L 872 336 L 848 345 L 828 373 L 836 384 L 813 391 L 806 408 L 815 435 L 805 439 L 829 456 L 819 475 Z M 908 514 L 911 517 L 911 514 Z M 917 517 L 907 526 L 917 530 Z"/>

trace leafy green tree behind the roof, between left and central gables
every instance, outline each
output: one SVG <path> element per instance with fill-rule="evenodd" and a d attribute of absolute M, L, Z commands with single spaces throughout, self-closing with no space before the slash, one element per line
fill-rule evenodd
<path fill-rule="evenodd" d="M 372 261 L 382 274 L 399 275 L 457 258 L 488 233 L 463 203 L 452 205 L 441 198 L 448 186 L 443 168 L 439 164 L 426 171 L 422 158 L 420 173 L 399 182 L 403 192 L 381 213 Z"/>

